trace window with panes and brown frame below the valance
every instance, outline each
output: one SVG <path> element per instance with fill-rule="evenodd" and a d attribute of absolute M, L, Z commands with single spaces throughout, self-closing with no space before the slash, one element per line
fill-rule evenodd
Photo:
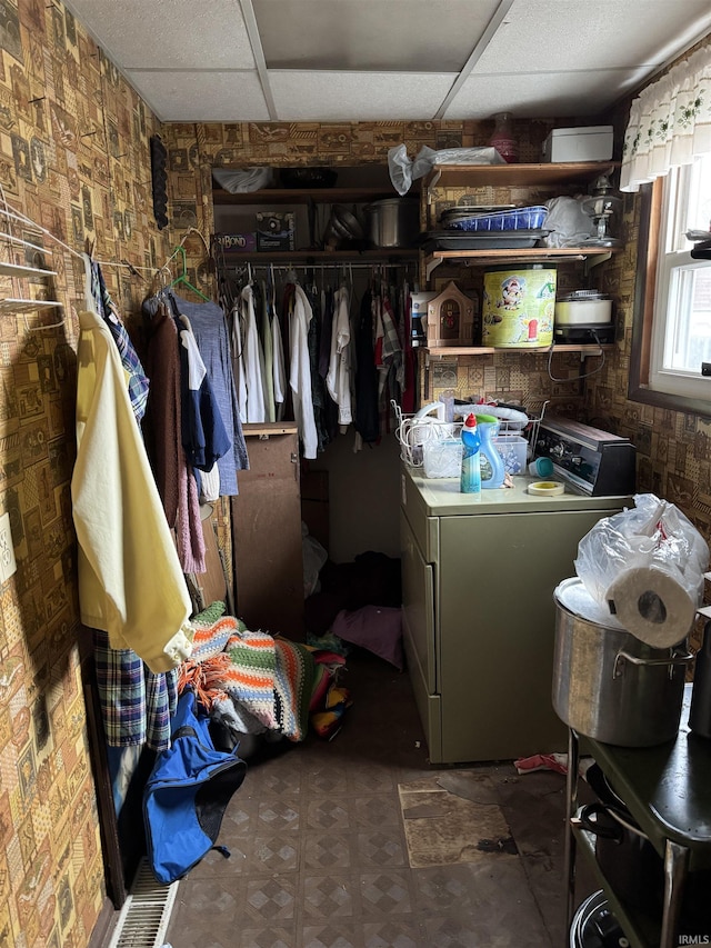
<path fill-rule="evenodd" d="M 711 156 L 670 170 L 649 202 L 647 285 L 635 326 L 630 398 L 711 413 L 711 259 L 691 256 L 711 231 Z M 689 234 L 689 236 L 688 236 Z M 690 239 L 690 237 L 692 239 Z M 655 262 L 654 262 L 655 261 Z M 639 335 L 638 335 L 639 333 Z M 645 341 L 641 341 L 644 339 Z M 710 375 L 703 375 L 709 363 Z"/>

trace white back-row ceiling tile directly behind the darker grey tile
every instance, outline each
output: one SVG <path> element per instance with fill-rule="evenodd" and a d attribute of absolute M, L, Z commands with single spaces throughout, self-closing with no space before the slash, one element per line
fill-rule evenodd
<path fill-rule="evenodd" d="M 270 70 L 277 116 L 284 121 L 431 119 L 455 73 Z"/>

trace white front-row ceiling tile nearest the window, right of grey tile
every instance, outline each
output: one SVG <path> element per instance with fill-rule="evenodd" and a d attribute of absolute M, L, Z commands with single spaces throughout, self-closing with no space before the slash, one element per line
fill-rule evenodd
<path fill-rule="evenodd" d="M 709 0 L 514 0 L 474 72 L 661 66 L 711 28 Z M 538 81 L 538 79 L 537 79 Z"/>

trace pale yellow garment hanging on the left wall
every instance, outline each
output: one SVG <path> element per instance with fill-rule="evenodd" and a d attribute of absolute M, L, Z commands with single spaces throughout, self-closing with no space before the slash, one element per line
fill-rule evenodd
<path fill-rule="evenodd" d="M 81 621 L 168 671 L 192 650 L 190 597 L 111 333 L 94 312 L 79 321 L 71 498 Z"/>

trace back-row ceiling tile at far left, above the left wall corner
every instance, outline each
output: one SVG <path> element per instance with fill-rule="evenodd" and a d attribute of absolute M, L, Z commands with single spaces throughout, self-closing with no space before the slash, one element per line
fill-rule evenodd
<path fill-rule="evenodd" d="M 257 72 L 131 69 L 127 74 L 163 122 L 269 120 Z"/>

